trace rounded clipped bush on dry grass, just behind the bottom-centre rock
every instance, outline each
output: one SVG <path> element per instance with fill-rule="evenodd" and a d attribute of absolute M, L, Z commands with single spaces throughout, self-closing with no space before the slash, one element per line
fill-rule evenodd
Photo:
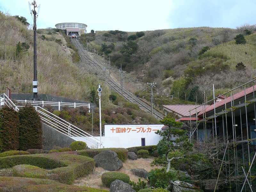
<path fill-rule="evenodd" d="M 110 187 L 110 184 L 115 180 L 121 180 L 124 181 L 125 183 L 129 183 L 130 177 L 125 173 L 117 171 L 105 172 L 101 175 L 101 182 L 106 187 Z"/>

